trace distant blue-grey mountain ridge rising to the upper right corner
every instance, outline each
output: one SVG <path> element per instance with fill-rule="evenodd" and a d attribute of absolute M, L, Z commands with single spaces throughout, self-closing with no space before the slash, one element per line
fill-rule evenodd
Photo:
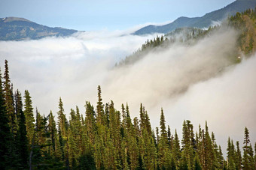
<path fill-rule="evenodd" d="M 220 10 L 215 10 L 211 13 L 206 13 L 202 17 L 188 18 L 181 16 L 176 19 L 174 22 L 171 22 L 167 25 L 148 25 L 144 28 L 139 29 L 133 34 L 152 34 L 152 33 L 163 33 L 167 34 L 170 31 L 175 30 L 176 28 L 182 27 L 197 27 L 197 28 L 208 28 L 212 25 L 214 21 L 221 21 L 226 19 L 227 16 L 233 16 L 237 12 L 242 12 L 248 8 L 256 7 L 255 0 L 236 0 L 231 4 L 228 4 L 226 7 L 221 8 Z"/>

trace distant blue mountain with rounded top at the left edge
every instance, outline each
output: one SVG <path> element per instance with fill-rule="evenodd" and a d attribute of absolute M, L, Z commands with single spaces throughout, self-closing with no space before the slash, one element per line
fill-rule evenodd
<path fill-rule="evenodd" d="M 38 40 L 49 36 L 69 36 L 77 30 L 47 27 L 24 18 L 0 18 L 0 40 Z"/>

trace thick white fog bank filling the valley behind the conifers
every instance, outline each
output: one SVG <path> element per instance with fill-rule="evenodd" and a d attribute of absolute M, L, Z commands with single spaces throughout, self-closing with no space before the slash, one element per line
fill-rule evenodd
<path fill-rule="evenodd" d="M 87 32 L 67 38 L 1 41 L 1 67 L 8 59 L 14 88 L 28 89 L 34 107 L 44 115 L 50 109 L 56 115 L 59 97 L 67 118 L 75 105 L 84 113 L 86 100 L 96 104 L 96 87 L 101 85 L 103 103 L 113 100 L 118 109 L 127 102 L 132 117 L 139 116 L 143 103 L 153 127 L 159 126 L 163 107 L 172 133 L 174 128 L 181 131 L 182 121 L 189 119 L 195 126 L 208 121 L 221 144 L 227 141 L 226 134 L 241 140 L 245 126 L 255 141 L 256 56 L 230 65 L 230 58 L 236 57 L 236 31 L 221 28 L 194 45 L 175 43 L 133 65 L 113 68 L 152 37 L 105 33 L 99 38 Z"/>

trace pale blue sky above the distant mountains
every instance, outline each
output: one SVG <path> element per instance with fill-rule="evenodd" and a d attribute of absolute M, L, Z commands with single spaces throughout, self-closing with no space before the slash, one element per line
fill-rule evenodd
<path fill-rule="evenodd" d="M 0 17 L 17 16 L 80 31 L 124 30 L 203 16 L 234 0 L 0 0 Z"/>

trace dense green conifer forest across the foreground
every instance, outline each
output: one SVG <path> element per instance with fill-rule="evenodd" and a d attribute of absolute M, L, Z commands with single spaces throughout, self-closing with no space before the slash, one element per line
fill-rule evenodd
<path fill-rule="evenodd" d="M 56 104 L 57 105 L 57 104 Z M 227 148 L 216 143 L 207 122 L 198 129 L 186 120 L 182 136 L 172 134 L 160 110 L 160 127 L 151 127 L 141 104 L 139 118 L 131 118 L 128 103 L 114 106 L 84 103 L 53 116 L 32 107 L 29 91 L 14 90 L 8 61 L 0 78 L 1 169 L 255 169 L 256 143 L 245 127 L 243 143 L 227 139 Z M 118 110 L 117 108 L 120 108 Z M 35 113 L 35 117 L 34 117 Z M 69 121 L 68 121 L 69 118 Z M 195 130 L 196 129 L 196 130 Z M 227 151 L 227 157 L 223 153 Z M 243 153 L 243 154 L 242 154 Z"/>

